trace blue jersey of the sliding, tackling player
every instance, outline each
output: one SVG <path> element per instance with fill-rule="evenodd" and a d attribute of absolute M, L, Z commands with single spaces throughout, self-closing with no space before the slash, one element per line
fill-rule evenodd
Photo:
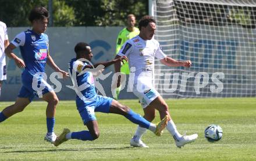
<path fill-rule="evenodd" d="M 86 65 L 89 65 L 89 63 L 81 62 L 76 58 L 72 59 L 69 62 L 70 77 L 73 84 L 80 88 L 79 92 L 81 92 L 84 98 L 95 99 L 97 98 L 97 93 L 95 91 L 93 74 L 90 71 L 83 71 Z M 84 73 L 81 74 L 81 72 Z M 79 74 L 81 75 L 79 76 Z M 81 96 L 77 95 L 77 99 L 81 99 Z"/>

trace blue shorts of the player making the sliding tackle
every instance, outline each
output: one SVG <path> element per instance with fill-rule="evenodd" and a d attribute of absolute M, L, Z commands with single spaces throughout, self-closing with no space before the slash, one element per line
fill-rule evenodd
<path fill-rule="evenodd" d="M 83 123 L 97 120 L 94 112 L 109 113 L 113 99 L 106 96 L 97 95 L 91 102 L 84 102 L 80 98 L 76 99 L 76 107 L 80 113 Z"/>

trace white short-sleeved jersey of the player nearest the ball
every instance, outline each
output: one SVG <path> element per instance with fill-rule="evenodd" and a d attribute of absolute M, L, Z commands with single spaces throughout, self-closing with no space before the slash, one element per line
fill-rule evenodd
<path fill-rule="evenodd" d="M 118 55 L 127 56 L 130 72 L 135 73 L 134 85 L 143 85 L 144 89 L 154 88 L 154 60 L 166 57 L 157 40 L 145 41 L 137 35 L 125 42 Z"/>

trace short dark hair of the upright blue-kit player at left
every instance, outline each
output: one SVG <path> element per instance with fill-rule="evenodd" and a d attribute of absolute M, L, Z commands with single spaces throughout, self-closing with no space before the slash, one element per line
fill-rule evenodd
<path fill-rule="evenodd" d="M 32 23 L 33 20 L 40 20 L 40 19 L 48 19 L 49 12 L 44 7 L 35 7 L 31 10 L 29 14 L 29 21 Z"/>

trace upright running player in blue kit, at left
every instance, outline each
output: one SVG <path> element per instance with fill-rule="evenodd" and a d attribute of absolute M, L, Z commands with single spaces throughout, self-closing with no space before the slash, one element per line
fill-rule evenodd
<path fill-rule="evenodd" d="M 44 7 L 37 7 L 31 10 L 29 20 L 32 23 L 32 30 L 27 30 L 16 35 L 9 46 L 5 49 L 5 54 L 13 59 L 20 68 L 25 68 L 22 73 L 23 86 L 19 91 L 14 105 L 8 106 L 0 112 L 0 122 L 5 121 L 15 113 L 22 112 L 24 108 L 33 100 L 34 96 L 42 97 L 48 102 L 46 109 L 47 134 L 45 140 L 54 142 L 55 111 L 58 97 L 51 86 L 43 80 L 45 65 L 68 76 L 66 71 L 59 69 L 54 60 L 49 55 L 48 36 L 44 34 L 48 24 L 48 10 Z M 22 59 L 13 53 L 13 49 L 19 46 Z"/>

